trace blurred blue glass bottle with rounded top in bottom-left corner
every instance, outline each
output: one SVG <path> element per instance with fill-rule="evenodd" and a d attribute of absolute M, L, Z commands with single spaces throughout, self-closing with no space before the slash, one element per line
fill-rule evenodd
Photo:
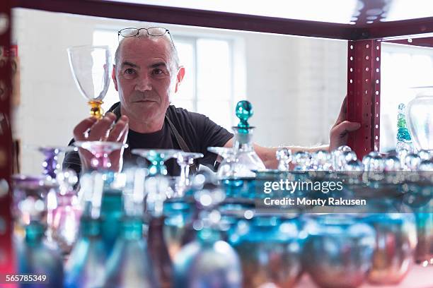
<path fill-rule="evenodd" d="M 63 285 L 63 262 L 58 250 L 45 244 L 45 227 L 40 222 L 30 222 L 25 227 L 25 239 L 18 244 L 18 274 L 47 275 L 47 283 L 22 284 L 21 287 L 58 288 Z"/>

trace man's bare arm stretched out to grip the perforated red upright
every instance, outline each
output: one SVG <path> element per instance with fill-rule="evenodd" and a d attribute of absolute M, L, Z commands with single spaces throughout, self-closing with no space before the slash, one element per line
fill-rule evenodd
<path fill-rule="evenodd" d="M 292 153 L 296 153 L 298 151 L 316 152 L 318 150 L 332 151 L 340 147 L 341 145 L 346 145 L 349 132 L 356 131 L 361 126 L 359 123 L 347 121 L 346 118 L 347 118 L 347 97 L 345 97 L 345 100 L 343 100 L 340 109 L 340 114 L 337 117 L 337 121 L 335 121 L 333 128 L 331 128 L 330 130 L 329 145 L 323 145 L 323 146 L 318 146 L 313 148 L 303 148 L 303 147 L 287 147 L 287 148 L 290 149 Z M 224 147 L 233 147 L 233 138 L 227 141 Z M 278 148 L 275 147 L 267 148 L 267 147 L 262 147 L 260 145 L 254 144 L 254 150 L 257 153 L 257 155 L 260 157 L 260 159 L 263 161 L 263 164 L 265 164 L 265 167 L 267 169 L 277 169 L 278 161 L 277 161 L 277 157 L 275 157 L 275 153 L 277 152 Z"/>

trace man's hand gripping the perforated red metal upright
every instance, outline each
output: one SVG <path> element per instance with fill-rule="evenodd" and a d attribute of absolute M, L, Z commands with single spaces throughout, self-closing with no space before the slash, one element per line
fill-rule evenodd
<path fill-rule="evenodd" d="M 340 114 L 338 115 L 337 121 L 333 128 L 331 128 L 329 136 L 329 150 L 335 150 L 341 145 L 347 145 L 347 138 L 349 132 L 357 131 L 361 124 L 356 122 L 347 121 L 347 96 L 343 100 Z"/>

